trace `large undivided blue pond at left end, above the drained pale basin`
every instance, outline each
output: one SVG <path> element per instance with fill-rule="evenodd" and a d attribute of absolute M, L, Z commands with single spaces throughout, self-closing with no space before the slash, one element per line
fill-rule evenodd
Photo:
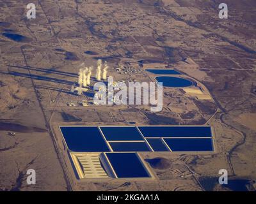
<path fill-rule="evenodd" d="M 61 127 L 68 149 L 74 152 L 109 152 L 97 127 Z"/>

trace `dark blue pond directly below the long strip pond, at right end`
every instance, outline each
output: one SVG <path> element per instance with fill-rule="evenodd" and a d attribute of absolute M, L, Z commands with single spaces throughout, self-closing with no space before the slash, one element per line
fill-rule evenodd
<path fill-rule="evenodd" d="M 164 138 L 173 152 L 213 151 L 211 138 Z"/>

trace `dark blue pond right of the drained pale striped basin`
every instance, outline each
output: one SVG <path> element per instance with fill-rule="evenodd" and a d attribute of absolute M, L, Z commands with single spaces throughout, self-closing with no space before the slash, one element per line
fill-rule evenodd
<path fill-rule="evenodd" d="M 136 153 L 106 153 L 118 178 L 148 178 L 150 174 Z"/>

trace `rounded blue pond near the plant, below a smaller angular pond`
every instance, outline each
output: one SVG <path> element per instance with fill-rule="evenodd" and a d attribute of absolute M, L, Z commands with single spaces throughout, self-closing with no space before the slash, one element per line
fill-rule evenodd
<path fill-rule="evenodd" d="M 157 82 L 162 82 L 164 87 L 190 87 L 194 83 L 180 77 L 156 77 Z"/>

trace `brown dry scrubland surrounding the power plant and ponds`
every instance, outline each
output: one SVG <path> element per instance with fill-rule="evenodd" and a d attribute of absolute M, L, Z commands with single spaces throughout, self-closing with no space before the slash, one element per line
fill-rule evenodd
<path fill-rule="evenodd" d="M 26 18 L 29 1 L 0 3 L 0 190 L 228 190 L 212 181 L 221 168 L 235 179 L 256 178 L 254 0 L 225 1 L 228 20 L 218 18 L 221 1 L 35 2 L 34 20 Z M 6 38 L 10 33 L 21 40 Z M 144 70 L 150 64 L 174 67 L 204 84 L 214 101 L 164 89 L 160 113 L 147 106 L 68 108 L 81 101 L 69 93 L 77 66 L 95 66 L 99 58 L 118 80 L 150 82 L 154 78 Z M 120 66 L 138 73 L 116 73 Z M 158 179 L 73 185 L 51 132 L 67 122 L 211 124 L 216 152 L 142 154 L 164 158 L 153 166 Z M 28 168 L 36 170 L 35 186 L 26 186 Z"/>

